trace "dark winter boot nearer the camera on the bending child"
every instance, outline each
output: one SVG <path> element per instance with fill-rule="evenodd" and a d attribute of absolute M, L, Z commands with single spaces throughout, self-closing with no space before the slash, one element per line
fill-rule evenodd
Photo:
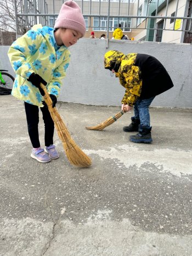
<path fill-rule="evenodd" d="M 151 138 L 151 127 L 139 125 L 139 133 L 130 136 L 130 141 L 135 143 L 151 143 L 153 141 Z"/>

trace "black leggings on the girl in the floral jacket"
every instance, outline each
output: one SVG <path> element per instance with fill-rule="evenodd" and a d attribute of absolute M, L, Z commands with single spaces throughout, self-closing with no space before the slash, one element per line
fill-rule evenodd
<path fill-rule="evenodd" d="M 27 127 L 33 148 L 40 147 L 38 135 L 39 108 L 36 105 L 25 103 L 25 113 L 27 118 Z M 40 108 L 44 120 L 44 143 L 48 147 L 53 144 L 54 122 L 46 107 Z"/>

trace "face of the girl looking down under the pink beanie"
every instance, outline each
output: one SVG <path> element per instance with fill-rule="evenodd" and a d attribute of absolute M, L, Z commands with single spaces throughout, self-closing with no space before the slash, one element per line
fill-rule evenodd
<path fill-rule="evenodd" d="M 60 28 L 54 33 L 55 41 L 58 46 L 64 44 L 66 47 L 70 47 L 82 37 L 81 33 L 73 29 Z"/>

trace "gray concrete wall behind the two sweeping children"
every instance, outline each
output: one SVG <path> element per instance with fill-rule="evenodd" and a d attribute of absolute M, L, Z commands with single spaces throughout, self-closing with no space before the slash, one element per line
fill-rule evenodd
<path fill-rule="evenodd" d="M 105 52 L 116 49 L 125 54 L 131 52 L 151 54 L 165 66 L 174 87 L 154 99 L 153 107 L 192 108 L 192 46 L 173 44 L 82 38 L 70 47 L 71 62 L 63 81 L 59 100 L 92 105 L 121 105 L 125 92 L 115 76 L 104 69 Z M 8 47 L 0 47 L 0 68 L 8 68 L 13 74 L 7 57 Z"/>

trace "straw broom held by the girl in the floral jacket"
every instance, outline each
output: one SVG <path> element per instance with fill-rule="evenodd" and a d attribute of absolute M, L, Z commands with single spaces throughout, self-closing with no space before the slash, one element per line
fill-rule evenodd
<path fill-rule="evenodd" d="M 64 124 L 64 121 L 61 119 L 61 116 L 58 113 L 56 107 L 52 107 L 52 99 L 47 92 L 46 87 L 41 83 L 41 88 L 44 91 L 44 101 L 46 102 L 50 115 L 54 121 L 54 125 L 57 129 L 60 140 L 63 143 L 63 147 L 66 153 L 69 162 L 78 167 L 88 167 L 91 165 L 92 161 L 72 140 L 67 127 Z"/>

